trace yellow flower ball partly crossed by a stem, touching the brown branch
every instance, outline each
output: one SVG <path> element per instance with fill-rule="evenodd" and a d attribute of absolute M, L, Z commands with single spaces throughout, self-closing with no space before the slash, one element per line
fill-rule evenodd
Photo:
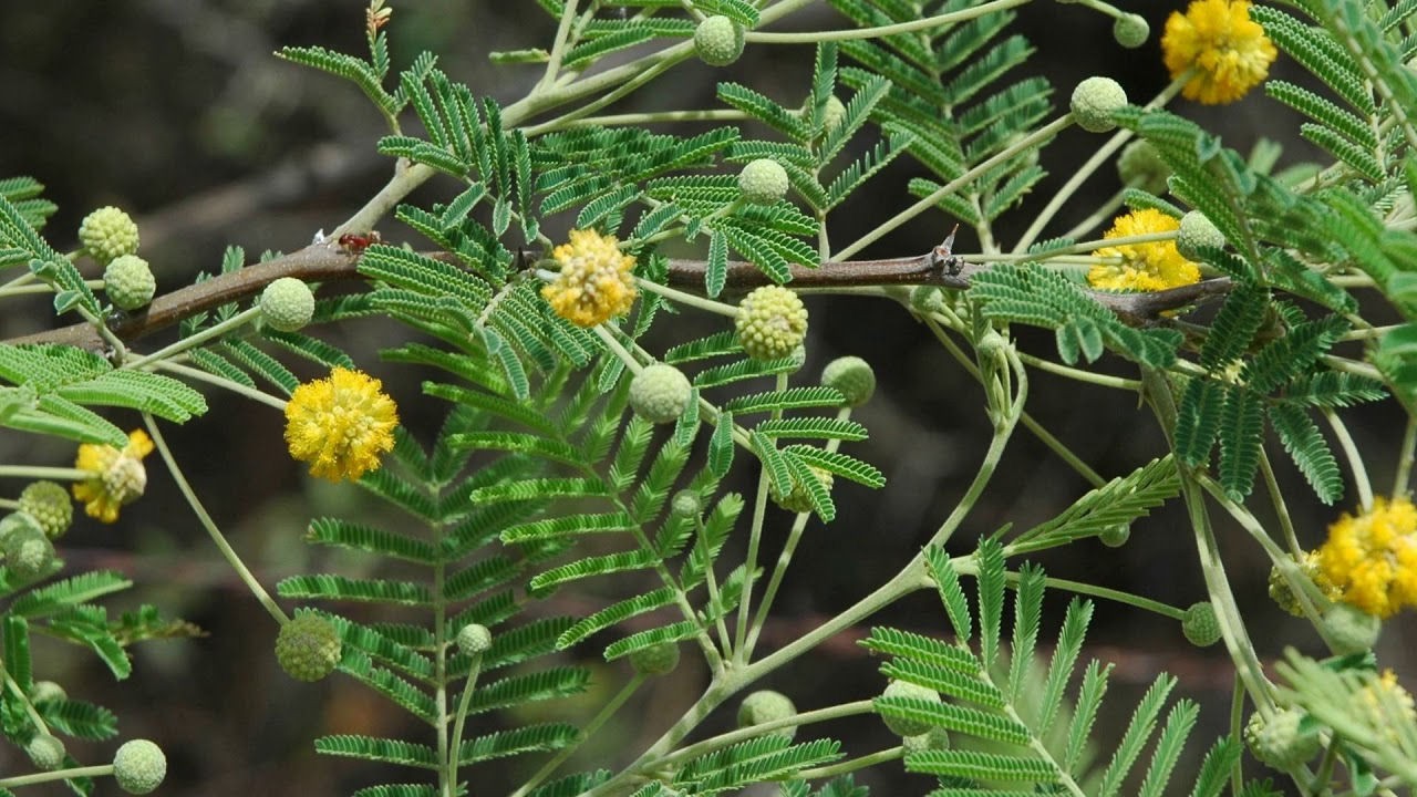
<path fill-rule="evenodd" d="M 1102 237 L 1112 240 L 1168 233 L 1179 225 L 1175 218 L 1148 207 L 1119 216 Z M 1102 291 L 1165 291 L 1200 279 L 1200 269 L 1180 257 L 1176 241 L 1102 247 L 1095 254 L 1101 258 L 1119 258 L 1119 262 L 1100 262 L 1087 272 L 1087 281 Z"/>

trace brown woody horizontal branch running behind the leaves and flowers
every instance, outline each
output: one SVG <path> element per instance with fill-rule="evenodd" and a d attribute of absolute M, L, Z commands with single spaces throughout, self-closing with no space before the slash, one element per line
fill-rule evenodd
<path fill-rule="evenodd" d="M 125 343 L 166 329 L 187 318 L 211 311 L 228 302 L 255 296 L 266 285 L 282 277 L 295 277 L 306 282 L 337 282 L 364 279 L 357 271 L 360 250 L 340 245 L 334 240 L 310 244 L 288 255 L 239 268 L 205 279 L 187 288 L 180 288 L 153 299 L 143 311 L 115 315 L 108 319 L 109 330 Z M 425 257 L 458 264 L 456 255 L 445 251 L 421 252 Z M 517 267 L 526 268 L 540 260 L 537 251 L 520 251 Z M 680 289 L 701 289 L 707 262 L 701 260 L 670 260 L 669 285 Z M 856 288 L 881 285 L 938 285 L 958 291 L 968 289 L 973 277 L 992 265 L 966 262 L 949 255 L 944 247 L 918 255 L 887 260 L 828 261 L 818 268 L 792 265 L 795 288 Z M 771 279 L 757 265 L 744 261 L 728 264 L 724 282 L 726 292 L 741 294 L 771 284 Z M 1155 323 L 1166 311 L 1183 308 L 1210 296 L 1230 291 L 1227 277 L 1206 279 L 1169 291 L 1152 294 L 1108 294 L 1087 291 L 1098 303 L 1134 326 Z M 9 345 L 61 343 L 91 352 L 102 352 L 105 342 L 89 323 L 75 323 L 60 329 L 37 332 L 6 340 Z"/>

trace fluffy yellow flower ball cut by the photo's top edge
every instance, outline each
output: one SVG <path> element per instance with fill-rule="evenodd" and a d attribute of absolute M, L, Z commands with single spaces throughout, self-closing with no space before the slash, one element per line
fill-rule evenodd
<path fill-rule="evenodd" d="M 1172 11 L 1161 50 L 1172 79 L 1195 69 L 1180 94 L 1204 105 L 1244 96 L 1278 54 L 1246 0 L 1193 0 L 1185 14 Z"/>

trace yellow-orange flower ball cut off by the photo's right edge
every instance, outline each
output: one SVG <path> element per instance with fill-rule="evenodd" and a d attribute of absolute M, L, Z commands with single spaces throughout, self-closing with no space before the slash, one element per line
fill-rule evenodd
<path fill-rule="evenodd" d="M 1370 512 L 1343 515 L 1318 557 L 1319 586 L 1336 589 L 1343 603 L 1377 617 L 1417 606 L 1417 506 L 1377 498 Z"/>

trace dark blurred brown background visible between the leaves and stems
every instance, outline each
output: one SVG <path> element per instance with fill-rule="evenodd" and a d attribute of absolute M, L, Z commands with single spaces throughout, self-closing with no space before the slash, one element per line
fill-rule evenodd
<path fill-rule="evenodd" d="M 540 75 L 540 67 L 493 67 L 487 51 L 541 47 L 555 28 L 530 0 L 421 0 L 393 6 L 388 33 L 395 69 L 408 65 L 419 51 L 431 50 L 453 79 L 503 102 L 521 96 Z M 1040 51 L 1027 69 L 1053 81 L 1057 105 L 1066 105 L 1071 87 L 1090 74 L 1115 77 L 1135 102 L 1145 102 L 1166 82 L 1156 40 L 1172 7 L 1148 1 L 1128 9 L 1151 20 L 1153 35 L 1142 48 L 1127 51 L 1114 44 L 1110 20 L 1081 6 L 1029 4 L 1019 11 L 1017 30 Z M 384 183 L 391 163 L 374 152 L 384 129 L 351 84 L 288 64 L 272 52 L 288 44 L 317 44 L 363 55 L 363 9 L 364 3 L 356 0 L 10 3 L 0 21 L 0 87 L 4 87 L 0 176 L 31 174 L 48 186 L 45 196 L 60 210 L 45 235 L 61 250 L 74 247 L 78 223 L 88 211 L 118 204 L 133 213 L 159 291 L 190 284 L 200 271 L 217 271 L 227 245 L 244 247 L 248 262 L 265 250 L 296 250 L 317 230 L 334 228 L 361 206 Z M 789 23 L 775 30 L 845 26 L 826 6 L 798 14 Z M 811 47 L 750 47 L 740 62 L 721 71 L 690 61 L 616 111 L 711 108 L 718 79 L 747 82 L 795 106 L 808 91 L 812 54 Z M 1281 61 L 1277 69 L 1288 74 L 1291 67 Z M 1281 165 L 1312 156 L 1302 142 L 1287 140 L 1295 121 L 1263 96 L 1224 109 L 1185 102 L 1176 109 L 1221 132 L 1224 142 L 1240 152 L 1268 136 L 1285 145 Z M 750 128 L 747 135 L 768 132 Z M 999 238 L 1009 241 L 1020 233 L 1030 210 L 1041 207 L 1100 140 L 1078 130 L 1060 136 L 1043 153 L 1050 177 L 999 227 Z M 870 136 L 863 135 L 857 149 L 870 143 Z M 900 159 L 839 210 L 833 227 L 837 245 L 908 206 L 913 199 L 904 186 L 917 173 L 908 159 Z M 1102 170 L 1049 234 L 1087 217 L 1117 189 L 1115 173 Z M 451 180 L 435 180 L 412 201 L 427 204 L 455 191 Z M 570 221 L 548 218 L 544 228 L 555 238 Z M 939 214 L 917 218 L 864 255 L 924 252 L 951 225 Z M 391 220 L 380 230 L 387 240 L 425 245 Z M 976 247 L 965 234 L 956 241 L 959 252 Z M 691 248 L 673 254 L 701 257 Z M 0 338 L 57 325 L 44 301 L 24 309 L 16 302 L 6 306 Z M 777 617 L 764 635 L 762 651 L 799 637 L 893 574 L 954 508 L 988 442 L 976 386 L 897 305 L 812 298 L 809 309 L 812 338 L 803 374 L 818 373 L 840 355 L 863 356 L 877 369 L 881 387 L 854 416 L 871 430 L 871 440 L 850 451 L 880 467 L 890 482 L 880 492 L 852 484 L 836 488 L 839 518 L 829 526 L 809 528 L 779 596 Z M 717 323 L 717 319 L 679 316 L 673 325 L 660 325 L 656 342 L 667 346 L 687 340 L 711 332 Z M 666 332 L 667 328 L 673 329 Z M 401 342 L 410 335 L 407 330 L 360 322 L 316 333 L 384 376 L 411 428 L 427 431 L 436 423 L 438 407 L 419 400 L 417 380 L 377 363 L 377 350 Z M 1022 339 L 1027 350 L 1053 356 L 1051 335 L 1023 333 Z M 292 367 L 302 376 L 316 376 L 302 363 Z M 1110 362 L 1105 367 L 1127 373 L 1125 363 Z M 208 393 L 208 401 L 207 417 L 169 428 L 167 434 L 197 492 L 262 581 L 269 586 L 319 569 L 367 572 L 370 563 L 359 557 L 306 547 L 300 533 L 312 516 L 384 511 L 357 488 L 307 478 L 285 454 L 278 413 L 218 393 Z M 1163 451 L 1159 428 L 1138 407 L 1135 396 L 1081 389 L 1036 373 L 1030 411 L 1107 476 L 1127 474 Z M 1359 448 L 1370 454 L 1369 468 L 1382 489 L 1390 484 L 1397 455 L 1400 410 L 1389 403 L 1345 417 Z M 115 420 L 125 428 L 139 424 L 133 416 Z M 67 465 L 72 457 L 72 445 L 14 433 L 0 435 L 4 462 Z M 1340 508 L 1319 505 L 1288 461 L 1282 457 L 1275 461 L 1289 486 L 1289 506 L 1301 539 L 1316 545 L 1338 511 L 1352 502 Z M 111 611 L 153 603 L 167 615 L 201 625 L 210 635 L 140 645 L 133 651 L 135 675 L 123 684 L 115 684 L 92 657 L 48 641 L 35 645 L 37 669 L 60 681 L 72 696 L 118 712 L 122 739 L 159 742 L 170 763 L 163 794 L 323 797 L 410 779 L 405 770 L 380 771 L 315 754 L 312 739 L 323 733 L 400 736 L 421 730 L 350 679 L 336 676 L 300 685 L 285 676 L 271 652 L 275 625 L 218 559 L 156 457 L 149 459 L 149 472 L 147 495 L 125 508 L 119 523 L 101 526 L 79 519 L 65 537 L 62 553 L 71 569 L 113 569 L 137 583 L 137 589 L 111 604 Z M 0 489 L 13 495 L 21 486 Z M 737 489 L 748 486 L 744 481 Z M 1083 479 L 1020 431 L 952 550 L 971 550 L 979 535 L 1006 522 L 1022 529 L 1051 518 L 1085 491 Z M 765 562 L 775 560 L 775 546 L 788 525 L 786 513 L 769 518 Z M 1260 550 L 1224 519 L 1219 519 L 1217 533 L 1261 658 L 1272 661 L 1285 645 L 1319 652 L 1318 640 L 1306 625 L 1265 597 L 1270 567 Z M 733 553 L 726 560 L 731 557 Z M 1054 576 L 1136 591 L 1182 607 L 1204 597 L 1189 525 L 1172 506 L 1138 522 L 1125 547 L 1083 542 L 1046 553 L 1039 562 Z M 534 611 L 584 615 L 612 597 L 595 589 L 568 590 Z M 1067 600 L 1068 596 L 1051 594 L 1044 641 L 1056 638 Z M 1227 722 L 1231 668 L 1221 647 L 1190 647 L 1178 623 L 1107 604 L 1098 608 L 1084 658 L 1117 662 L 1108 699 L 1114 713 L 1101 719 L 1098 737 L 1117 737 L 1135 701 L 1165 671 L 1180 678 L 1179 696 L 1203 705 L 1202 723 L 1189 746 L 1190 760 L 1199 760 Z M 948 632 L 932 594 L 903 601 L 873 623 L 934 635 Z M 854 644 L 864 632 L 866 628 L 856 628 L 843 634 L 813 657 L 774 674 L 764 686 L 786 692 L 801 709 L 879 693 L 884 685 L 877 672 L 880 662 Z M 1396 618 L 1387 624 L 1379 648 L 1380 659 L 1396 668 L 1408 686 L 1414 672 L 1407 652 L 1410 634 L 1410 618 Z M 591 693 L 568 705 L 538 705 L 533 709 L 536 719 L 584 719 L 618 691 L 628 667 L 601 661 L 601 647 L 612 641 L 605 637 L 568 655 L 594 668 Z M 608 732 L 587 746 L 577 764 L 591 769 L 626 763 L 679 716 L 704 684 L 701 664 L 686 655 L 673 675 L 643 689 Z M 531 719 L 533 710 L 523 719 Z M 731 710 L 726 706 L 707 729 L 728 728 Z M 873 718 L 819 729 L 842 739 L 853 754 L 896 743 Z M 74 743 L 71 752 L 84 762 L 106 762 L 112 745 Z M 28 763 L 17 754 L 0 747 L 0 774 L 28 770 Z M 536 757 L 526 757 L 468 774 L 475 779 L 473 793 L 497 794 L 510 791 L 537 766 Z M 897 766 L 869 770 L 857 780 L 877 794 L 925 793 L 932 784 L 930 779 L 900 773 Z M 23 793 L 65 791 L 30 787 Z M 103 781 L 99 793 L 113 794 L 116 787 Z"/>

